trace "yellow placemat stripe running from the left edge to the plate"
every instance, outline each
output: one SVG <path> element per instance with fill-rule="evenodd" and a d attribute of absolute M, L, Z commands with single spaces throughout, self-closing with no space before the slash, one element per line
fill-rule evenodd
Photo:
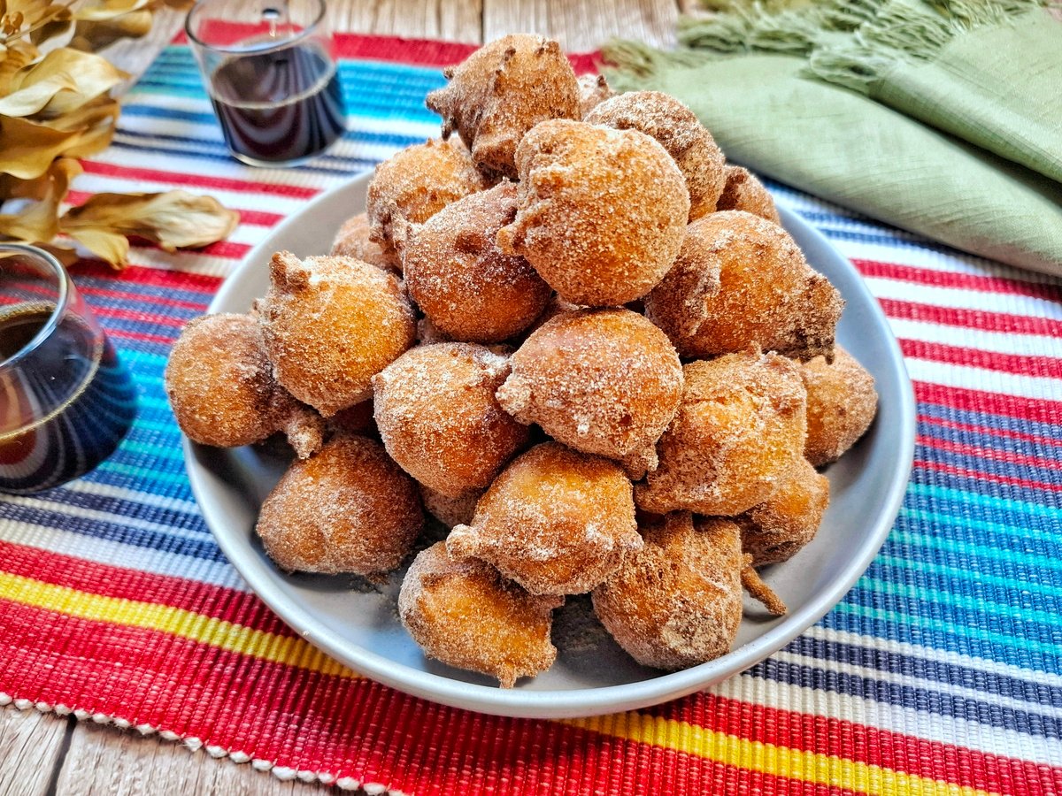
<path fill-rule="evenodd" d="M 304 639 L 255 630 L 171 605 L 92 594 L 8 572 L 0 572 L 0 598 L 78 619 L 167 633 L 226 652 L 325 675 L 359 676 Z"/>

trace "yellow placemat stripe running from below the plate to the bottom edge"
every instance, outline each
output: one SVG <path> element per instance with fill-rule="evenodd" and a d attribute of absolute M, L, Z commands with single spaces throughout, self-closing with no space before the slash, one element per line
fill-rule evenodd
<path fill-rule="evenodd" d="M 905 774 L 893 768 L 832 755 L 750 741 L 686 722 L 644 713 L 613 713 L 565 720 L 563 723 L 613 738 L 662 746 L 738 768 L 816 784 L 835 785 L 873 796 L 913 794 L 995 796 L 990 791 L 929 779 L 917 774 Z"/>

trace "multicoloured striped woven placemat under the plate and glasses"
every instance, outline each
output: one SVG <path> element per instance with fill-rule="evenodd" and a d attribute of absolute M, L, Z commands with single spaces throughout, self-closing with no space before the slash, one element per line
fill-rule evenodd
<path fill-rule="evenodd" d="M 297 170 L 225 154 L 187 48 L 129 94 L 98 191 L 209 192 L 228 241 L 134 247 L 75 280 L 140 415 L 90 475 L 0 500 L 0 704 L 73 711 L 281 777 L 406 793 L 1062 791 L 1062 281 L 959 255 L 772 186 L 855 262 L 919 400 L 914 472 L 856 587 L 769 660 L 657 708 L 564 723 L 415 699 L 329 660 L 251 594 L 203 523 L 161 385 L 169 346 L 309 197 L 435 135 L 461 45 L 340 37 L 352 129 Z M 322 241 L 327 246 L 328 241 Z"/>

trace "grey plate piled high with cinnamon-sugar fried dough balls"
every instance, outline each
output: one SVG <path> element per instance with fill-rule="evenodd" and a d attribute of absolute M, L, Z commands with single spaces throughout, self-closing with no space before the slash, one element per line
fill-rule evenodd
<path fill-rule="evenodd" d="M 439 134 L 276 227 L 166 387 L 229 560 L 405 692 L 564 717 L 703 689 L 869 566 L 913 398 L 853 265 L 656 92 L 506 36 Z"/>

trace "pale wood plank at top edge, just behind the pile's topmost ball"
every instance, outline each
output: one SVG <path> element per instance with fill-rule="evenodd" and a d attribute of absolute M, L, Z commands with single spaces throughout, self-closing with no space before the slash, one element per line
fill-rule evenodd
<path fill-rule="evenodd" d="M 539 33 L 572 52 L 617 37 L 671 47 L 678 19 L 675 0 L 483 0 L 483 40 Z"/>

